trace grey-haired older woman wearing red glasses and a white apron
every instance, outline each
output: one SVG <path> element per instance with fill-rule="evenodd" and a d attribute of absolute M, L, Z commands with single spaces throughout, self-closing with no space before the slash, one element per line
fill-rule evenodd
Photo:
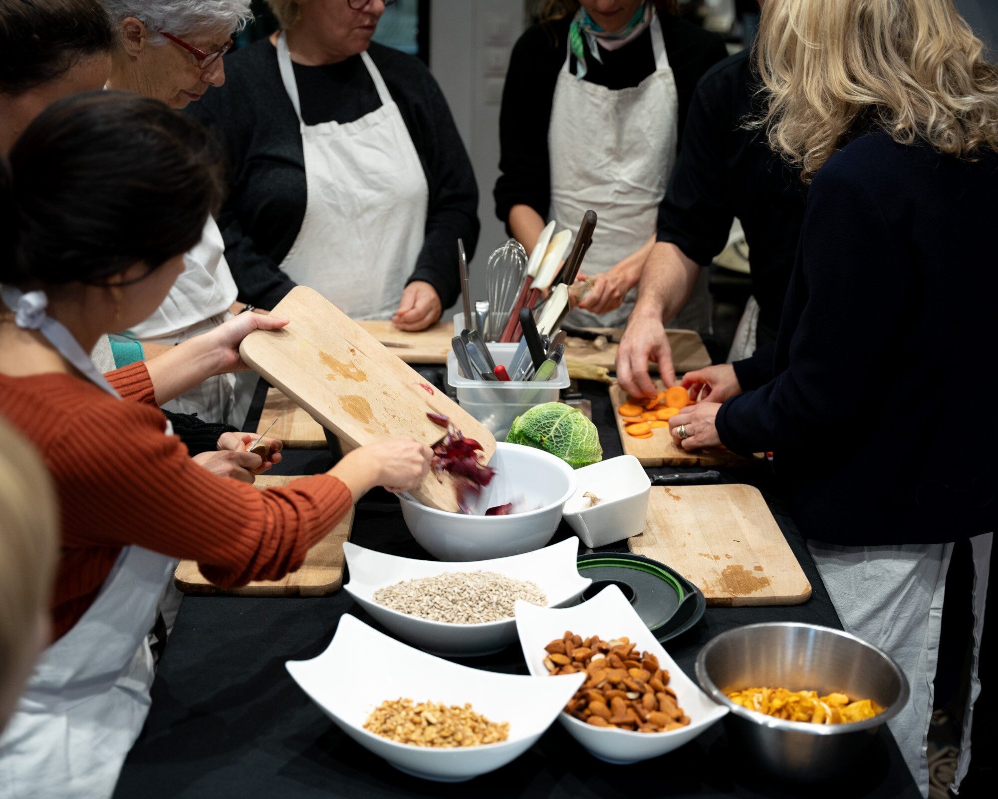
<path fill-rule="evenodd" d="M 223 55 L 232 36 L 251 18 L 250 0 L 101 0 L 119 29 L 109 89 L 136 92 L 182 109 L 226 80 Z M 122 334 L 142 343 L 147 357 L 221 325 L 234 306 L 236 283 L 225 244 L 212 217 L 201 243 L 185 257 L 187 269 L 166 302 L 149 319 Z M 138 350 L 138 348 L 136 348 Z M 137 354 L 137 358 L 141 358 Z M 127 361 L 103 365 L 123 367 Z M 247 376 L 250 381 L 253 376 Z M 219 375 L 166 408 L 197 413 L 204 421 L 237 426 L 249 409 L 251 383 Z"/>

